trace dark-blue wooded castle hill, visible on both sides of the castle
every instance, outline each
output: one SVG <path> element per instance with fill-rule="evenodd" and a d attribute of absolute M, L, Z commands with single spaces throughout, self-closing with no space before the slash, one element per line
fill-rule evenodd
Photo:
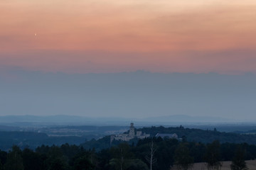
<path fill-rule="evenodd" d="M 249 145 L 256 145 L 256 135 L 240 135 L 238 133 L 231 132 L 218 132 L 218 130 L 201 130 L 183 128 L 183 126 L 177 128 L 164 128 L 163 126 L 151 128 L 139 128 L 139 131 L 150 134 L 151 137 L 155 137 L 157 133 L 176 133 L 178 138 L 182 138 L 183 141 L 188 142 L 201 142 L 203 144 L 211 143 L 218 140 L 220 143 L 247 143 Z M 136 144 L 139 140 L 134 138 L 129 141 L 129 144 Z M 82 143 L 81 146 L 85 149 L 95 148 L 97 151 L 101 149 L 107 149 L 114 145 L 119 145 L 122 141 L 114 140 L 110 145 L 110 136 L 102 137 L 100 140 L 90 140 Z"/>

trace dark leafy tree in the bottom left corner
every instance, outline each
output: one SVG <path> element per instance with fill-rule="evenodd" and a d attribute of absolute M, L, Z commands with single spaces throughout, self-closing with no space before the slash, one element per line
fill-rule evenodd
<path fill-rule="evenodd" d="M 21 157 L 21 149 L 13 146 L 11 152 L 7 154 L 6 164 L 4 170 L 23 170 L 23 160 Z"/>

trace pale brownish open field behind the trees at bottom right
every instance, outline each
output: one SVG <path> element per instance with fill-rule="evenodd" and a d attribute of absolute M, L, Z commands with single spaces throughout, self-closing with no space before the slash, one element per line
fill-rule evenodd
<path fill-rule="evenodd" d="M 231 162 L 223 162 L 223 166 L 221 167 L 221 170 L 230 170 L 230 164 L 231 164 Z M 251 169 L 251 170 L 256 169 L 256 160 L 246 161 L 246 164 L 249 169 Z M 176 170 L 176 169 L 173 168 L 171 170 Z M 206 163 L 205 162 L 195 163 L 193 165 L 192 170 L 207 170 Z"/>

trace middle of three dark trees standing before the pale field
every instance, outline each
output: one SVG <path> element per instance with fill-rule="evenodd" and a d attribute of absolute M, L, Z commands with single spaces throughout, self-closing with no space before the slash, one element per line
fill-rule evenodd
<path fill-rule="evenodd" d="M 220 162 L 220 142 L 218 140 L 213 141 L 207 145 L 206 148 L 206 163 L 207 168 L 220 169 L 222 164 Z"/>

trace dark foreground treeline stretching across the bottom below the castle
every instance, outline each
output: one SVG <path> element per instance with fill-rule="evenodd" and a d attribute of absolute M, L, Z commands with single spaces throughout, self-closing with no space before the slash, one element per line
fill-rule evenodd
<path fill-rule="evenodd" d="M 137 145 L 126 142 L 102 149 L 84 149 L 77 145 L 48 147 L 42 145 L 35 150 L 14 146 L 9 152 L 0 151 L 0 170 L 147 170 L 189 169 L 195 162 L 207 162 L 208 166 L 221 166 L 220 162 L 243 163 L 245 159 L 256 158 L 256 146 L 246 143 L 220 143 L 217 140 L 208 144 L 183 140 L 146 138 Z M 233 164 L 233 166 L 238 166 Z"/>

